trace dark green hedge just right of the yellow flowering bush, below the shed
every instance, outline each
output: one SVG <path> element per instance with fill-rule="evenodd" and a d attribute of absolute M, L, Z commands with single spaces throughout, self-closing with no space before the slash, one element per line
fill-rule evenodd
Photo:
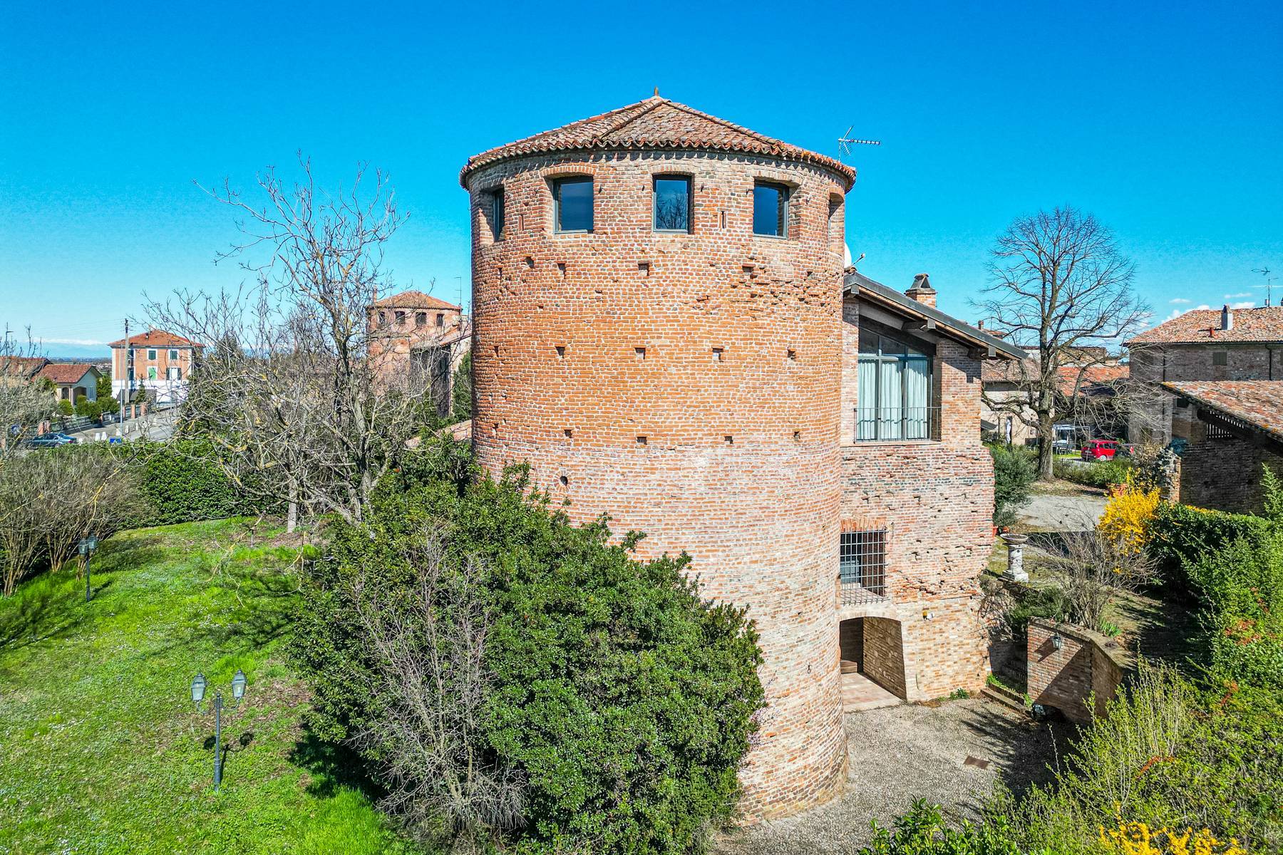
<path fill-rule="evenodd" d="M 1269 520 L 1251 514 L 1202 510 L 1170 501 L 1159 502 L 1147 532 L 1147 550 L 1159 563 L 1168 596 L 1202 599 L 1187 568 L 1236 540 L 1259 544 L 1270 531 Z"/>

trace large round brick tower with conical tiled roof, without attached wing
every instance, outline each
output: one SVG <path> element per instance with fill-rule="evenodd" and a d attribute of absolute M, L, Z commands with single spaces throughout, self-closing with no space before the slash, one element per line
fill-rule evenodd
<path fill-rule="evenodd" d="M 824 801 L 844 778 L 835 585 L 853 181 L 661 97 L 476 155 L 461 174 L 477 458 L 495 473 L 529 461 L 574 519 L 607 513 L 617 532 L 644 531 L 644 556 L 685 550 L 704 596 L 748 606 L 769 701 L 740 773 L 752 817 Z"/>

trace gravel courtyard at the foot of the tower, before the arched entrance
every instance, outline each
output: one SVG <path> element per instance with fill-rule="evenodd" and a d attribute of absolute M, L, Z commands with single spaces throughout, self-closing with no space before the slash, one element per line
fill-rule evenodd
<path fill-rule="evenodd" d="M 922 796 L 952 819 L 974 818 L 994 782 L 1021 788 L 1046 781 L 1055 751 L 1047 726 L 1033 726 L 989 701 L 890 706 L 847 715 L 849 770 L 834 801 L 797 817 L 724 837 L 721 855 L 856 852 L 869 822 L 889 824 Z M 967 758 L 987 768 L 967 763 Z"/>

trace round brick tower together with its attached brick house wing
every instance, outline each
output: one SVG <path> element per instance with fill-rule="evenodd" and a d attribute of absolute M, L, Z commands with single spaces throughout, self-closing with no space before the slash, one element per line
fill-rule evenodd
<path fill-rule="evenodd" d="M 979 372 L 1023 354 L 843 268 L 849 167 L 657 96 L 461 182 L 477 458 L 749 608 L 751 814 L 840 788 L 843 659 L 906 699 L 983 685 Z"/>

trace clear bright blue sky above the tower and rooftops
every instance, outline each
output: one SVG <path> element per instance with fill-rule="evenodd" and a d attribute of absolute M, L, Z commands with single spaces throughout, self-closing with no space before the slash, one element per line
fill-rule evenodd
<path fill-rule="evenodd" d="M 847 237 L 973 317 L 993 237 L 1074 204 L 1159 318 L 1283 276 L 1283 6 L 1239 4 L 10 4 L 0 27 L 0 326 L 101 350 L 144 291 L 217 290 L 205 197 L 303 150 L 386 169 L 398 286 L 468 282 L 468 155 L 648 95 L 826 154 Z M 1247 295 L 1228 297 L 1225 295 Z M 1275 301 L 1283 296 L 1283 279 Z M 1184 301 L 1184 303 L 1178 303 Z"/>

